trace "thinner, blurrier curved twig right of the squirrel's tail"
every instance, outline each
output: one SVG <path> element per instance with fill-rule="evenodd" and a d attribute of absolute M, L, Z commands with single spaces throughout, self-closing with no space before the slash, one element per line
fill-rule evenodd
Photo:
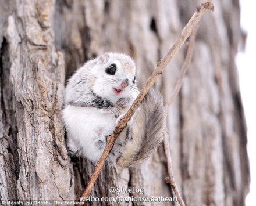
<path fill-rule="evenodd" d="M 189 67 L 189 64 L 192 59 L 193 55 L 193 48 L 194 48 L 194 43 L 195 43 L 195 34 L 197 33 L 197 28 L 198 25 L 194 28 L 194 31 L 189 37 L 189 44 L 187 45 L 187 55 L 184 60 L 184 63 L 182 65 L 182 70 L 180 71 L 179 78 L 177 80 L 177 83 L 175 85 L 175 89 L 173 90 L 172 96 L 168 100 L 168 102 L 165 104 L 165 114 L 168 112 L 168 108 L 170 104 L 172 104 L 173 100 L 175 97 L 178 95 L 180 88 L 182 86 L 183 78 L 184 75 L 186 74 L 187 68 Z M 166 118 L 167 115 L 165 115 Z M 165 121 L 166 122 L 166 121 Z M 172 171 L 172 158 L 170 156 L 170 146 L 169 146 L 169 135 L 168 135 L 168 130 L 167 130 L 167 125 L 165 124 L 165 133 L 164 133 L 164 139 L 163 139 L 163 146 L 165 147 L 165 156 L 166 156 L 166 161 L 167 161 L 167 170 L 168 170 L 168 177 L 165 178 L 167 183 L 170 183 L 172 186 L 172 189 L 180 203 L 180 205 L 185 205 L 184 201 L 182 199 L 182 196 L 180 196 L 179 189 L 176 186 L 175 179 L 173 176 L 173 171 Z"/>

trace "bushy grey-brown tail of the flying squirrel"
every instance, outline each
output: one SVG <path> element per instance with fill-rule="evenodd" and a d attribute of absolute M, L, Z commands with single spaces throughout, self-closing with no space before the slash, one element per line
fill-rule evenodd
<path fill-rule="evenodd" d="M 133 167 L 150 156 L 163 140 L 164 119 L 162 98 L 151 89 L 130 120 L 118 165 Z"/>

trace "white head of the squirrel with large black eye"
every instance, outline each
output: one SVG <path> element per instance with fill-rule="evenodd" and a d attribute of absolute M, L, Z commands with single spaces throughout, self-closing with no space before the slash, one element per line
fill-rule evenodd
<path fill-rule="evenodd" d="M 90 73 L 94 76 L 93 92 L 116 102 L 120 98 L 134 98 L 138 94 L 136 67 L 130 56 L 105 53 L 93 60 Z"/>

